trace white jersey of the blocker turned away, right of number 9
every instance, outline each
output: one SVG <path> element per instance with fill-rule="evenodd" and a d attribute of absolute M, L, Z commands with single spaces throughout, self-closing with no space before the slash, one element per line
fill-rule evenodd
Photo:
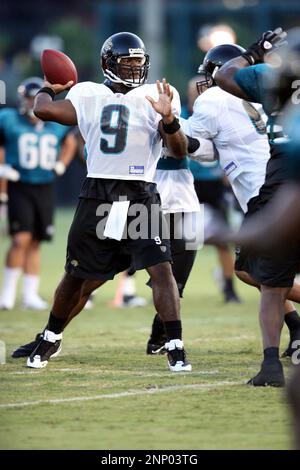
<path fill-rule="evenodd" d="M 213 140 L 221 167 L 244 212 L 247 212 L 248 201 L 258 195 L 265 181 L 270 158 L 261 109 L 261 105 L 212 87 L 196 99 L 192 116 L 181 120 L 188 136 Z"/>

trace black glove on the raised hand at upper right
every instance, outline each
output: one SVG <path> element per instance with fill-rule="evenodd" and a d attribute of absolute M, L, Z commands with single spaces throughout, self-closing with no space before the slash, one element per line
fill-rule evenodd
<path fill-rule="evenodd" d="M 242 56 L 250 65 L 261 64 L 264 61 L 265 54 L 287 44 L 286 37 L 287 34 L 282 28 L 266 31 L 257 42 L 248 47 Z"/>

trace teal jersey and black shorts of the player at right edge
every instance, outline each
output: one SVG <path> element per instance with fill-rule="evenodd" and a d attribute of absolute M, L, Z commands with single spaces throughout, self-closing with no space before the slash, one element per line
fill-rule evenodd
<path fill-rule="evenodd" d="M 271 158 L 266 169 L 265 182 L 258 196 L 248 202 L 245 220 L 262 210 L 274 197 L 277 190 L 289 179 L 288 152 L 290 141 L 277 126 L 278 104 L 276 99 L 275 71 L 266 64 L 253 65 L 238 70 L 235 81 L 248 97 L 261 103 L 268 116 L 268 136 Z M 262 285 L 292 287 L 300 263 L 300 241 L 294 240 L 282 246 L 276 253 L 256 256 L 245 249 L 237 254 L 236 270 L 246 271 Z"/>

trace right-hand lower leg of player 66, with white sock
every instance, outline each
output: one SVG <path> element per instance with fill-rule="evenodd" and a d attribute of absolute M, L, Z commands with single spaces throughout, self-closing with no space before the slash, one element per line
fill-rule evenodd
<path fill-rule="evenodd" d="M 48 308 L 38 293 L 40 285 L 40 241 L 32 240 L 25 258 L 23 277 L 23 307 L 34 310 L 45 310 Z"/>

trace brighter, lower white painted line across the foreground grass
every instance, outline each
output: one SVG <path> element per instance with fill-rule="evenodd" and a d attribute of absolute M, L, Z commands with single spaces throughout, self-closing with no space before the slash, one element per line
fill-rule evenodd
<path fill-rule="evenodd" d="M 70 398 L 56 398 L 52 400 L 24 401 L 20 403 L 3 403 L 3 404 L 0 404 L 0 408 L 8 409 L 8 408 L 19 408 L 19 407 L 36 406 L 36 405 L 56 405 L 59 403 L 93 401 L 93 400 L 101 400 L 105 398 L 123 398 L 123 397 L 137 396 L 137 395 L 154 395 L 156 393 L 176 392 L 179 390 L 207 390 L 207 389 L 213 389 L 213 388 L 218 388 L 218 387 L 242 385 L 242 384 L 243 382 L 240 382 L 240 381 L 239 382 L 222 381 L 222 382 L 203 383 L 203 384 L 171 385 L 168 387 L 151 388 L 148 390 L 145 390 L 145 389 L 128 390 L 127 392 L 93 395 L 90 397 L 70 397 Z"/>

